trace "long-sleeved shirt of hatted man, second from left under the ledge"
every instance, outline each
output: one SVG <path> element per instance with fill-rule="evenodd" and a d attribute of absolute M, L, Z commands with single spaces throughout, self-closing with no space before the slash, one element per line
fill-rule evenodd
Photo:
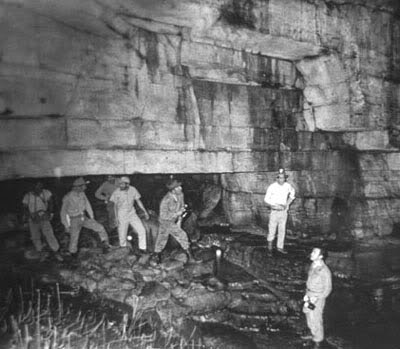
<path fill-rule="evenodd" d="M 90 218 L 94 218 L 93 209 L 84 192 L 70 191 L 63 198 L 60 218 L 64 226 L 69 226 L 68 217 L 83 215 L 85 211 Z"/>

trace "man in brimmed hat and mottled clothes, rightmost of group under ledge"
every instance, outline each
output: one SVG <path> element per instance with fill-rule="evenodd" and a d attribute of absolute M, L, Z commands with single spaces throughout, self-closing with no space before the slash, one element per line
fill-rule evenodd
<path fill-rule="evenodd" d="M 172 235 L 188 255 L 189 261 L 197 262 L 190 250 L 188 236 L 181 228 L 182 214 L 186 210 L 182 183 L 170 178 L 166 186 L 168 193 L 165 194 L 160 203 L 160 227 L 154 252 L 160 261 L 161 252 L 165 248 L 169 236 Z"/>

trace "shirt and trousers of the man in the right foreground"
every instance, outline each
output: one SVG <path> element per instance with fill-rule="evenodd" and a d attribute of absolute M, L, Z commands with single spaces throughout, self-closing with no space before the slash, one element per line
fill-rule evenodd
<path fill-rule="evenodd" d="M 308 271 L 306 295 L 315 297 L 315 309 L 303 309 L 306 314 L 307 326 L 314 342 L 324 340 L 323 312 L 325 300 L 332 291 L 332 274 L 327 265 L 320 261 L 313 263 Z"/>

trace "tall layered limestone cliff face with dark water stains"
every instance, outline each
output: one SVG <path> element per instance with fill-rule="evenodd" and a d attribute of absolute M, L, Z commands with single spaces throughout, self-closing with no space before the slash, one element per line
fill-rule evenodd
<path fill-rule="evenodd" d="M 232 223 L 400 220 L 390 0 L 0 0 L 0 178 L 221 173 Z M 340 223 L 340 224 L 339 224 Z"/>

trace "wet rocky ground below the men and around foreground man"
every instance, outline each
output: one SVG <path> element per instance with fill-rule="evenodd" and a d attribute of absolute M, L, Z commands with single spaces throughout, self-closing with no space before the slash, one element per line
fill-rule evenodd
<path fill-rule="evenodd" d="M 140 318 L 157 327 L 164 338 L 180 338 L 208 348 L 302 348 L 305 321 L 300 301 L 307 255 L 318 244 L 330 250 L 328 264 L 334 275 L 334 292 L 327 303 L 326 347 L 373 348 L 364 346 L 365 339 L 357 342 L 355 333 L 365 329 L 365 319 L 371 317 L 368 314 L 374 314 L 375 329 L 377 324 L 385 324 L 389 315 L 389 323 L 400 323 L 396 322 L 400 318 L 396 292 L 400 260 L 395 253 L 387 253 L 384 260 L 371 253 L 396 249 L 396 240 L 372 249 L 363 244 L 355 247 L 349 241 L 317 241 L 289 234 L 289 254 L 271 256 L 259 231 L 248 228 L 239 232 L 220 226 L 203 229 L 194 245 L 200 263 L 187 263 L 186 255 L 176 248 L 157 264 L 150 254 L 138 256 L 126 248 L 103 254 L 101 249 L 83 244 L 75 260 L 64 262 L 51 256 L 41 262 L 26 251 L 21 258 L 19 253 L 13 270 L 29 271 L 47 285 L 65 284 L 86 290 L 96 299 L 112 301 L 129 319 Z M 7 253 L 18 248 L 11 246 Z M 218 250 L 221 260 L 216 259 Z M 365 264 L 372 260 L 375 271 Z M 366 269 L 380 277 L 368 275 L 368 280 L 362 280 L 360 272 Z M 381 309 L 379 297 L 385 300 Z M 348 324 L 354 333 L 344 330 Z M 388 343 L 382 347 L 395 348 L 391 346 L 394 333 L 386 333 Z"/>

